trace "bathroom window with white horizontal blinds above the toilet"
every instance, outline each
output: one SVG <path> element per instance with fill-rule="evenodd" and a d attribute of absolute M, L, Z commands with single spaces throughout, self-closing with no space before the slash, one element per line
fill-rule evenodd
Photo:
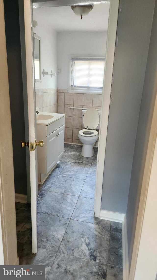
<path fill-rule="evenodd" d="M 102 92 L 104 58 L 72 58 L 71 90 Z"/>

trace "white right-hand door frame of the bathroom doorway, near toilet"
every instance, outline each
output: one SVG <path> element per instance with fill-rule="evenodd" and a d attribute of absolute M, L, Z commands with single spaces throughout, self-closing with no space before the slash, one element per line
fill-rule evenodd
<path fill-rule="evenodd" d="M 119 11 L 119 0 L 110 0 L 110 11 L 108 18 L 107 45 L 105 55 L 104 85 L 102 93 L 102 109 L 100 118 L 100 133 L 98 142 L 98 157 L 96 166 L 96 185 L 95 185 L 95 205 L 94 212 L 96 217 L 100 217 L 103 172 L 105 163 L 105 151 L 107 140 L 107 127 L 110 108 L 110 96 L 113 74 L 113 61 L 115 54 L 115 43 L 117 33 L 117 21 Z"/>

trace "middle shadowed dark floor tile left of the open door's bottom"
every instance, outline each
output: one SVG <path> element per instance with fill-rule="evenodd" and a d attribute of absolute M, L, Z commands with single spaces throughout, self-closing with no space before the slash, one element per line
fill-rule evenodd
<path fill-rule="evenodd" d="M 20 232 L 17 234 L 17 242 L 24 244 L 32 244 L 32 222 L 29 218 L 25 225 L 21 228 Z"/>

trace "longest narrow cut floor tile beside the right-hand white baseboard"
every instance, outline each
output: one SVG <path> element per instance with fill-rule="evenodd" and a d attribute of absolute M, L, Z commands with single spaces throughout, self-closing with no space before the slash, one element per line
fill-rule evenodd
<path fill-rule="evenodd" d="M 122 267 L 122 230 L 111 228 L 108 264 Z"/>

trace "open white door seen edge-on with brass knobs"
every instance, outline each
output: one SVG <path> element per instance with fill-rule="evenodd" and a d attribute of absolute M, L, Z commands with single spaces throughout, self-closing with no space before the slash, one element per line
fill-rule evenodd
<path fill-rule="evenodd" d="M 24 0 L 25 20 L 25 48 L 26 48 L 26 76 L 28 97 L 28 126 L 30 146 L 30 189 L 31 189 L 31 216 L 32 216 L 32 253 L 37 253 L 37 149 L 35 146 L 36 134 L 36 100 L 34 87 L 33 65 L 33 31 L 32 31 L 32 1 Z M 26 106 L 26 104 L 24 104 Z M 28 139 L 25 139 L 28 141 Z M 38 139 L 39 141 L 40 139 Z M 31 144 L 32 143 L 32 144 Z"/>

